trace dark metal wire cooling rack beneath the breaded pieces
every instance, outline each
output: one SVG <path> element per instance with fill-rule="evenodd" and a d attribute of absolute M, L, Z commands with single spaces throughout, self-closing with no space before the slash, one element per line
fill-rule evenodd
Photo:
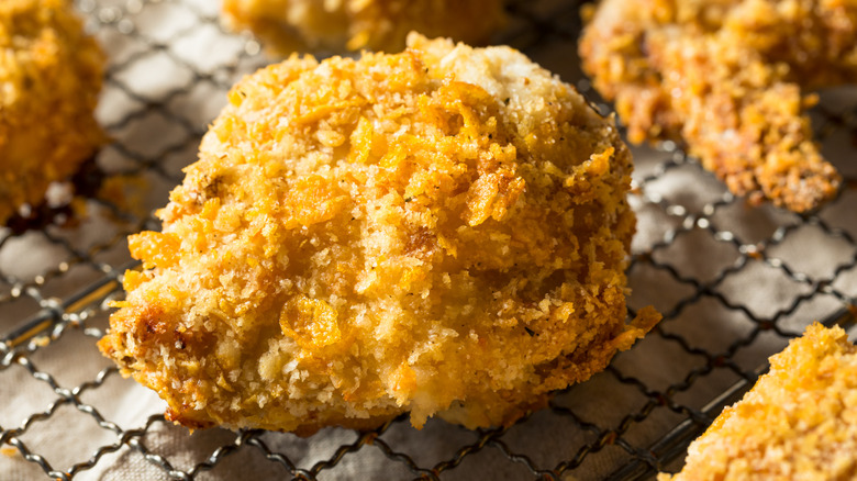
<path fill-rule="evenodd" d="M 110 56 L 99 120 L 114 142 L 73 180 L 71 208 L 0 228 L 2 479 L 646 479 L 813 320 L 845 323 L 857 294 L 857 96 L 825 92 L 814 125 L 848 179 L 809 215 L 752 208 L 675 145 L 635 148 L 633 312 L 664 322 L 592 380 L 508 428 L 398 418 L 371 432 L 171 426 L 154 394 L 97 353 L 107 303 L 133 264 L 125 237 L 158 228 L 200 136 L 240 76 L 269 61 L 225 33 L 210 0 L 79 0 Z M 516 1 L 500 41 L 598 108 L 577 65 L 579 2 Z M 116 195 L 122 192 L 122 195 Z M 154 407 L 153 407 L 154 406 Z"/>

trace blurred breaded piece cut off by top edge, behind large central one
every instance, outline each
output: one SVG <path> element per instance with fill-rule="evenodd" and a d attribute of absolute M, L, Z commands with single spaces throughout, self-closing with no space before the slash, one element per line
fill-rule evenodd
<path fill-rule="evenodd" d="M 502 0 L 224 0 L 223 18 L 275 51 L 400 52 L 408 33 L 481 44 L 504 23 Z"/>

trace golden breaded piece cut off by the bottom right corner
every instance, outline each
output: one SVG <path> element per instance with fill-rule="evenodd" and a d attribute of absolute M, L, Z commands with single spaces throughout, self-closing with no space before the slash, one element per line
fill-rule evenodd
<path fill-rule="evenodd" d="M 659 481 L 857 478 L 857 347 L 816 323 L 770 365 Z"/>

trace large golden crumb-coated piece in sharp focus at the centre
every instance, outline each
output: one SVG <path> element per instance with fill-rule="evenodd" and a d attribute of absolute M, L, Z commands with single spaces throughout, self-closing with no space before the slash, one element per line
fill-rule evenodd
<path fill-rule="evenodd" d="M 100 347 L 169 420 L 508 424 L 657 322 L 625 324 L 613 121 L 511 48 L 409 45 L 242 80 L 130 238 L 146 270 Z"/>

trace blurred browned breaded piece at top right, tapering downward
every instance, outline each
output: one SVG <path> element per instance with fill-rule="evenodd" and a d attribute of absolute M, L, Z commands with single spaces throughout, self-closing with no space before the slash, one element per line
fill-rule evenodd
<path fill-rule="evenodd" d="M 683 141 L 754 203 L 804 212 L 836 194 L 805 91 L 857 78 L 857 1 L 604 0 L 585 16 L 585 70 L 632 142 Z"/>

